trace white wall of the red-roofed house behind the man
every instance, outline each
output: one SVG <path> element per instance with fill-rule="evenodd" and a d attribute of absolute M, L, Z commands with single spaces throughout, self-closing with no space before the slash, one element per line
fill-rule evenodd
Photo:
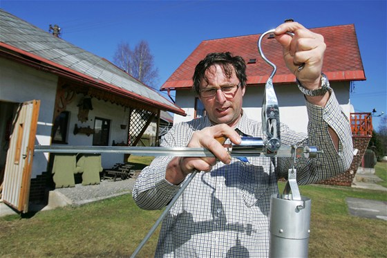
<path fill-rule="evenodd" d="M 334 94 L 341 109 L 349 117 L 351 110 L 349 82 L 331 83 Z M 263 86 L 247 86 L 243 97 L 243 110 L 249 118 L 261 121 L 261 109 L 263 101 Z M 294 131 L 307 132 L 308 113 L 305 107 L 305 98 L 300 93 L 296 84 L 274 86 L 280 109 L 280 121 L 287 124 Z M 189 121 L 193 119 L 195 107 L 195 95 L 193 91 L 176 91 L 176 104 L 181 107 L 187 116 L 173 116 L 173 123 Z"/>

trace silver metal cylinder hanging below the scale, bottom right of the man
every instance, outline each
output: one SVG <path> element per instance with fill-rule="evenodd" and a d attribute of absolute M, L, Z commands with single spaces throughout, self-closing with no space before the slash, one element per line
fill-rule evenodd
<path fill-rule="evenodd" d="M 310 234 L 308 197 L 273 194 L 270 200 L 270 257 L 308 257 Z"/>

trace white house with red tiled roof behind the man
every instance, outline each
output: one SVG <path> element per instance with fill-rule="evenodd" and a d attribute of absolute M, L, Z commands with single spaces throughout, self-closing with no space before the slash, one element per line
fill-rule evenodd
<path fill-rule="evenodd" d="M 312 28 L 311 30 L 325 38 L 327 49 L 324 56 L 323 73 L 328 76 L 343 112 L 349 117 L 353 112 L 350 103 L 351 82 L 366 80 L 355 26 L 350 24 Z M 196 98 L 196 93 L 191 90 L 194 68 L 208 53 L 226 51 L 245 59 L 247 89 L 243 109 L 249 118 L 260 121 L 263 91 L 267 77 L 272 73 L 272 67 L 258 53 L 259 37 L 260 35 L 257 34 L 201 42 L 162 85 L 163 90 L 176 91 L 176 104 L 187 113 L 187 116 L 174 116 L 173 122 L 187 121 L 202 116 L 202 105 Z M 281 122 L 285 122 L 296 131 L 306 132 L 308 121 L 305 100 L 296 86 L 294 75 L 285 66 L 280 44 L 274 37 L 269 36 L 263 39 L 262 48 L 267 59 L 277 66 L 273 82 L 279 102 Z"/>

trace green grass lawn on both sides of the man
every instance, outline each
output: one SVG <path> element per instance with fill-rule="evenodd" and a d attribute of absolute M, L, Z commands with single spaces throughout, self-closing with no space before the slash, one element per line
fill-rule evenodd
<path fill-rule="evenodd" d="M 326 185 L 300 192 L 312 199 L 309 257 L 387 257 L 387 221 L 351 216 L 346 205 L 346 197 L 387 201 L 386 192 Z M 140 210 L 127 194 L 30 218 L 3 216 L 0 257 L 129 257 L 160 214 Z M 138 257 L 153 257 L 157 238 L 158 231 Z"/>

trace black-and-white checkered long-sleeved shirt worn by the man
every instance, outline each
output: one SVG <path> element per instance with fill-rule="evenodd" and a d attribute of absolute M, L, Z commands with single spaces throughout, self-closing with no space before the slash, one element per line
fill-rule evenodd
<path fill-rule="evenodd" d="M 324 108 L 306 102 L 308 135 L 281 125 L 283 145 L 317 146 L 318 158 L 296 161 L 299 185 L 315 183 L 345 172 L 352 162 L 352 138 L 348 118 L 334 93 Z M 162 146 L 186 147 L 194 131 L 210 127 L 207 117 L 181 122 L 165 136 Z M 328 127 L 339 136 L 336 151 Z M 237 129 L 263 138 L 261 122 L 243 115 Z M 133 198 L 140 208 L 164 208 L 180 189 L 165 179 L 172 157 L 157 157 L 143 169 Z M 164 218 L 155 257 L 267 257 L 269 252 L 270 196 L 278 194 L 277 181 L 287 177 L 290 158 L 232 158 L 216 163 L 211 172 L 200 172 Z M 285 214 L 284 214 L 285 216 Z"/>

